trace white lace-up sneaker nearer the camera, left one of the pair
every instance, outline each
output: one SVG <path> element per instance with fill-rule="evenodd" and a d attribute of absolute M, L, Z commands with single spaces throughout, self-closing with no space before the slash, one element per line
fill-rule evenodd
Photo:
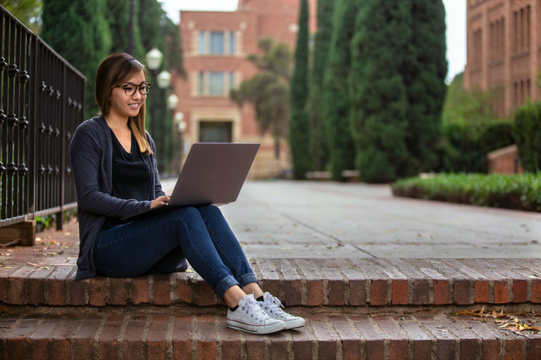
<path fill-rule="evenodd" d="M 254 299 L 244 296 L 235 311 L 228 309 L 228 327 L 254 334 L 270 334 L 286 328 L 285 322 L 268 316 Z"/>

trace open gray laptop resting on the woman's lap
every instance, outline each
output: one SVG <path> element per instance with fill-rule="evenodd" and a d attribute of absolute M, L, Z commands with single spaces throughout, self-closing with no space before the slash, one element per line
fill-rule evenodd
<path fill-rule="evenodd" d="M 133 221 L 171 207 L 224 205 L 237 200 L 259 143 L 194 143 L 169 203 L 123 217 Z"/>

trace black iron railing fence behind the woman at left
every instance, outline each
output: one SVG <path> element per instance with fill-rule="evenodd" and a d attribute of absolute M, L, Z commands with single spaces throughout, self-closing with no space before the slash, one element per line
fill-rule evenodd
<path fill-rule="evenodd" d="M 84 46 L 82 44 L 81 46 Z M 0 226 L 77 205 L 68 144 L 86 78 L 0 6 Z"/>

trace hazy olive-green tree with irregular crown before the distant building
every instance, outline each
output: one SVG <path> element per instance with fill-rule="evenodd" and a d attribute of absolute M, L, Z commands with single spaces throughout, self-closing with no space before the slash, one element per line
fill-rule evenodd
<path fill-rule="evenodd" d="M 237 104 L 249 102 L 256 110 L 256 120 L 261 134 L 270 131 L 275 141 L 275 156 L 280 157 L 280 140 L 287 135 L 290 117 L 290 78 L 292 54 L 285 42 L 275 42 L 270 37 L 259 40 L 262 55 L 251 54 L 248 59 L 259 72 L 244 80 L 230 97 Z"/>

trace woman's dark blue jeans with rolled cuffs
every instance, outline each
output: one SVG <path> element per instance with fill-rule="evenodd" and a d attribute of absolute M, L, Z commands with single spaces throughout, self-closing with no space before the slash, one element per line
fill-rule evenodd
<path fill-rule="evenodd" d="M 94 243 L 99 275 L 135 277 L 184 271 L 186 259 L 223 299 L 257 278 L 222 212 L 179 207 L 102 231 Z"/>

